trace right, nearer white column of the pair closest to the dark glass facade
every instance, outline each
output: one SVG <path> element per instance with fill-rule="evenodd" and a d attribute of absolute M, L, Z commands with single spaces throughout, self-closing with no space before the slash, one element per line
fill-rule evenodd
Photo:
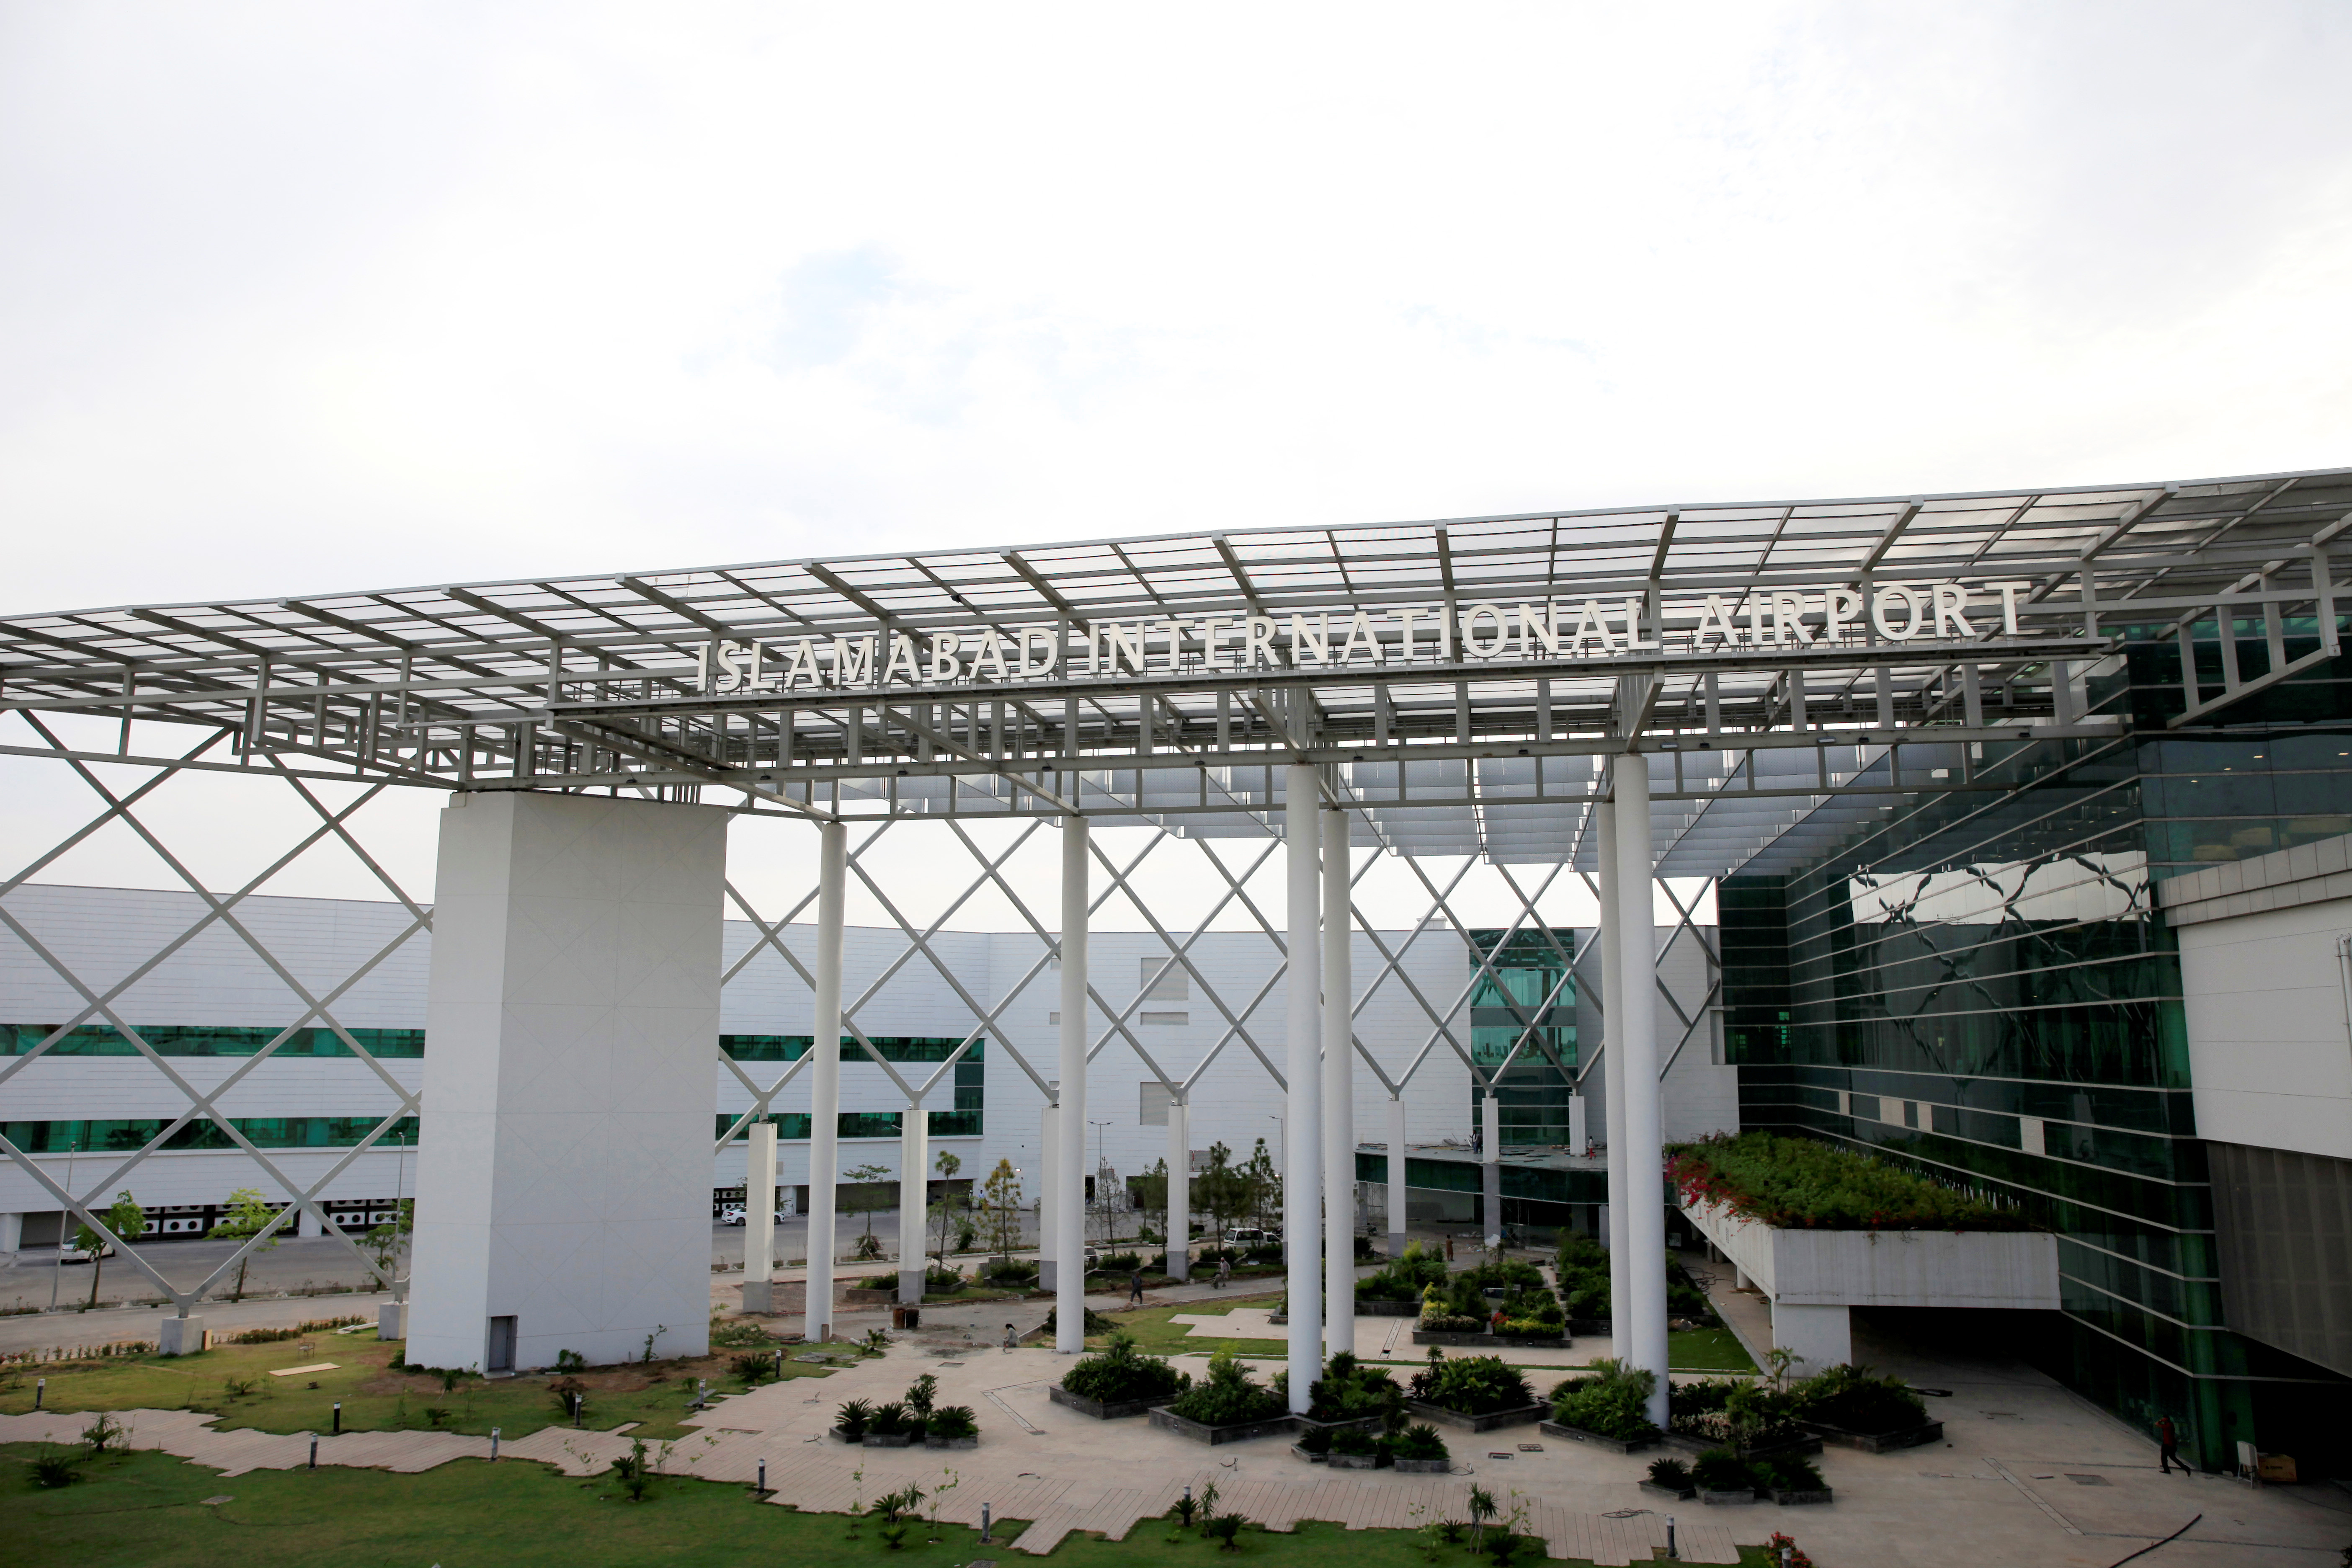
<path fill-rule="evenodd" d="M 1618 1039 L 1625 1053 L 1625 1262 L 1632 1324 L 1618 1359 L 1658 1375 L 1649 1418 L 1665 1425 L 1665 1175 L 1658 1117 L 1658 922 L 1651 910 L 1649 762 L 1639 752 L 1616 766 L 1618 844 Z M 1618 1319 L 1621 1324 L 1625 1319 Z"/>

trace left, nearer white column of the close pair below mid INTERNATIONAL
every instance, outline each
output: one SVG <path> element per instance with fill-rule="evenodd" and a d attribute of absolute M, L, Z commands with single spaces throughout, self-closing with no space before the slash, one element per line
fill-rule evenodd
<path fill-rule="evenodd" d="M 1284 976 L 1289 1079 L 1284 1126 L 1282 1246 L 1289 1269 L 1291 1413 L 1308 1413 L 1308 1389 L 1322 1378 L 1322 790 L 1315 769 L 1294 764 L 1282 778 L 1282 837 L 1289 870 L 1289 973 Z"/>

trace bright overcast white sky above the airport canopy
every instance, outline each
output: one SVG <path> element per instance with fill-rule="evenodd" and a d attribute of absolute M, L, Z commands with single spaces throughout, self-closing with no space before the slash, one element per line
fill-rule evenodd
<path fill-rule="evenodd" d="M 2347 80 L 2244 0 L 0 0 L 0 611 L 2343 463 Z"/>

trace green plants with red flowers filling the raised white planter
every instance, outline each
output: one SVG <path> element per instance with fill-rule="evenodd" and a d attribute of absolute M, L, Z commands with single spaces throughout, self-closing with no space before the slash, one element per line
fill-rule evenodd
<path fill-rule="evenodd" d="M 2037 1229 L 2023 1211 L 1811 1138 L 1740 1133 L 1686 1143 L 1675 1150 L 1672 1178 L 1684 1204 L 1722 1204 L 1740 1218 L 1795 1229 Z"/>

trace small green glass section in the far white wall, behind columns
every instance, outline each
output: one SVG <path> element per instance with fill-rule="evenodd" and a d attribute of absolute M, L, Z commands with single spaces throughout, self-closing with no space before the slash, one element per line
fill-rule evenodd
<path fill-rule="evenodd" d="M 1576 980 L 1569 961 L 1576 933 L 1555 929 L 1472 931 L 1479 954 L 1501 952 L 1470 992 L 1470 1058 L 1503 1067 L 1496 1114 L 1503 1145 L 1569 1143 L 1569 1098 L 1576 1084 Z M 1522 1044 L 1524 1039 L 1524 1044 Z M 1517 1051 L 1517 1056 L 1512 1056 Z M 1479 1088 L 1470 1088 L 1470 1126 L 1479 1126 Z"/>

